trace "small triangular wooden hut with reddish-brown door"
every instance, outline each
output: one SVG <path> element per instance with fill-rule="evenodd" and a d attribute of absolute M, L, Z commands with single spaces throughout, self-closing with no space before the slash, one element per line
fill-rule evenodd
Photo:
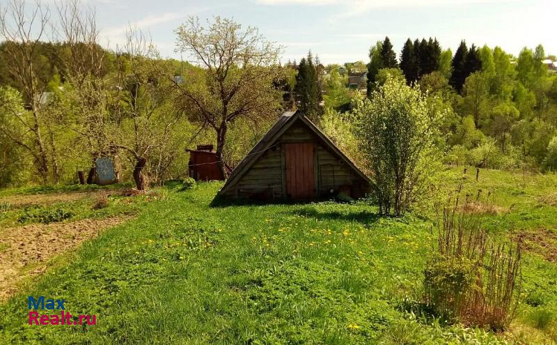
<path fill-rule="evenodd" d="M 370 180 L 300 112 L 285 112 L 232 171 L 217 197 L 309 201 L 363 197 Z"/>

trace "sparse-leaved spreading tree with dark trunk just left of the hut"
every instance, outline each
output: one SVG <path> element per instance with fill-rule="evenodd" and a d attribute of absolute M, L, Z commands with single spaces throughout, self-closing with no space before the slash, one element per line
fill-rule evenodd
<path fill-rule="evenodd" d="M 178 82 L 180 105 L 191 119 L 212 128 L 217 135 L 217 164 L 224 176 L 224 149 L 228 124 L 235 118 L 257 123 L 273 116 L 281 103 L 281 92 L 273 81 L 281 72 L 281 47 L 260 36 L 258 29 L 230 19 L 215 17 L 208 27 L 189 17 L 176 29 L 182 52 L 203 66 L 203 78 Z"/>

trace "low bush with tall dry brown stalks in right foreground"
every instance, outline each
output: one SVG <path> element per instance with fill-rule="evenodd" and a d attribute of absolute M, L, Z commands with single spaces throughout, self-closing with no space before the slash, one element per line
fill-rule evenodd
<path fill-rule="evenodd" d="M 453 316 L 468 325 L 505 329 L 514 318 L 520 282 L 519 243 L 489 243 L 483 212 L 462 212 L 459 198 L 444 206 L 439 222 L 437 254 L 425 268 L 425 299 L 439 316 Z M 518 239 L 519 241 L 520 239 Z"/>

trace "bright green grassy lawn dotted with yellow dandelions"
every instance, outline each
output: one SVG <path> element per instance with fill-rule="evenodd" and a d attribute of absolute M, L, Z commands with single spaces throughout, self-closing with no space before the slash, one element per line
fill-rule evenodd
<path fill-rule="evenodd" d="M 487 227 L 557 233 L 557 176 L 448 171 L 447 186 L 491 192 L 505 210 Z M 139 216 L 65 254 L 0 305 L 0 343 L 44 344 L 551 344 L 557 263 L 524 254 L 519 313 L 510 332 L 446 326 L 405 312 L 419 300 L 435 236 L 429 216 L 377 217 L 366 204 L 210 207 L 221 183 L 161 190 Z M 2 192 L 9 194 L 10 192 Z M 551 247 L 556 245 L 556 247 Z M 27 296 L 64 298 L 97 325 L 27 324 Z M 410 302 L 409 302 L 410 301 Z M 543 316 L 543 315 L 546 316 Z M 540 316 L 541 315 L 541 316 Z M 549 315 L 549 316 L 547 316 Z M 540 323 L 540 318 L 549 321 Z M 553 320 L 553 321 L 551 321 Z"/>

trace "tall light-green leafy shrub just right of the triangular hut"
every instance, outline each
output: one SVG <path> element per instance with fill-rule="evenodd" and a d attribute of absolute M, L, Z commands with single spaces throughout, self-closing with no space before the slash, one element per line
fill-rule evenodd
<path fill-rule="evenodd" d="M 356 100 L 354 130 L 372 173 L 379 213 L 404 213 L 416 197 L 414 189 L 420 190 L 424 176 L 432 174 L 427 170 L 430 164 L 420 162 L 427 155 L 435 157 L 429 148 L 443 117 L 437 110 L 431 109 L 418 85 L 411 88 L 403 79 L 387 78 L 371 101 Z"/>

